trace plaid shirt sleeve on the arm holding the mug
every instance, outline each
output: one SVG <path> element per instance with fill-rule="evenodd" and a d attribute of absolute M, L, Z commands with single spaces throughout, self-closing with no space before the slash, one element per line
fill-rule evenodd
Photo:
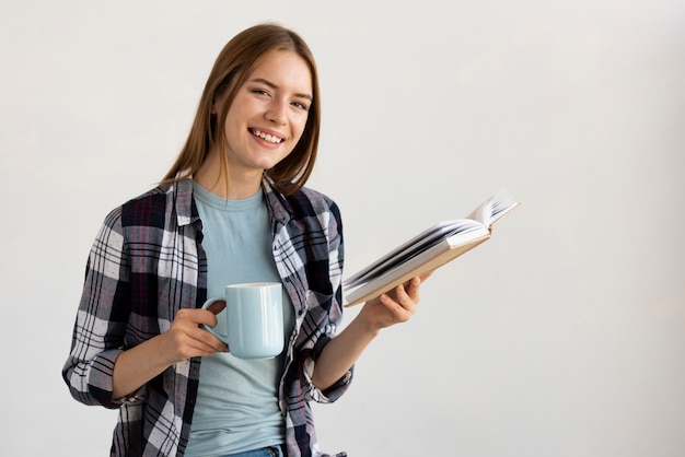
<path fill-rule="evenodd" d="M 71 351 L 62 368 L 72 397 L 85 405 L 120 406 L 112 400 L 113 373 L 124 351 L 129 278 L 119 208 L 107 215 L 91 248 Z"/>

